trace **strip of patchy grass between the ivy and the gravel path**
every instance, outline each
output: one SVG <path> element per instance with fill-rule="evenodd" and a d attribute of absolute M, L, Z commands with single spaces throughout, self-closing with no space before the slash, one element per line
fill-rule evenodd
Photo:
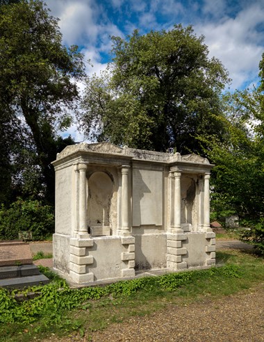
<path fill-rule="evenodd" d="M 89 341 L 92 331 L 104 329 L 132 316 L 146 316 L 160 309 L 188 305 L 205 299 L 215 300 L 224 295 L 246 291 L 264 281 L 264 259 L 253 251 L 217 252 L 217 263 L 224 264 L 225 267 L 193 271 L 192 277 L 176 289 L 168 290 L 170 286 L 173 288 L 173 276 L 163 278 L 163 283 L 168 284 L 167 289 L 155 286 L 155 282 L 160 282 L 160 277 L 155 277 L 153 282 L 149 282 L 150 286 L 147 287 L 147 283 L 143 281 L 142 284 L 145 285 L 136 292 L 132 291 L 130 295 L 127 290 L 119 295 L 105 295 L 99 300 L 81 302 L 78 309 L 64 311 L 54 305 L 47 316 L 33 323 L 0 325 L 1 341 L 42 341 L 58 336 L 78 339 L 84 334 Z M 125 283 L 133 284 L 120 283 L 121 289 Z M 152 283 L 154 285 L 151 285 Z"/>

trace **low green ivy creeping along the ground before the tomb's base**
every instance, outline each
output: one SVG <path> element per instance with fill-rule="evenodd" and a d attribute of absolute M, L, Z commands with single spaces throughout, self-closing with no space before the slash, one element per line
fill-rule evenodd
<path fill-rule="evenodd" d="M 160 288 L 162 291 L 175 291 L 181 286 L 186 286 L 195 279 L 211 277 L 239 277 L 238 266 L 226 265 L 223 268 L 211 268 L 204 271 L 179 272 L 160 277 L 145 277 L 131 281 L 117 282 L 104 287 L 85 287 L 71 289 L 63 279 L 45 268 L 40 268 L 45 275 L 56 280 L 45 286 L 36 286 L 24 291 L 14 290 L 9 293 L 0 288 L 0 323 L 33 323 L 42 319 L 44 325 L 60 325 L 63 321 L 63 311 L 74 308 L 86 310 L 89 307 L 88 300 L 99 300 L 106 296 L 114 298 L 130 296 L 139 291 L 151 292 Z M 17 302 L 15 295 L 35 291 L 38 296 Z"/>

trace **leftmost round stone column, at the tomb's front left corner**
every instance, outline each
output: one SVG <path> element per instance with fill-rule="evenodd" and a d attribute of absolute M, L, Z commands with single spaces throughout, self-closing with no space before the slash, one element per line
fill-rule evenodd
<path fill-rule="evenodd" d="M 79 164 L 79 235 L 88 234 L 86 203 L 86 170 L 86 164 Z"/>

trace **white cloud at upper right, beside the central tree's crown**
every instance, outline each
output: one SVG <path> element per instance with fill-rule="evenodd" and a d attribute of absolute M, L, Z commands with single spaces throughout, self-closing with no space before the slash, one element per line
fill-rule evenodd
<path fill-rule="evenodd" d="M 263 46 L 262 33 L 256 29 L 263 22 L 264 9 L 254 5 L 241 10 L 234 18 L 195 25 L 205 35 L 210 55 L 219 58 L 233 79 L 232 88 L 256 81 Z"/>

